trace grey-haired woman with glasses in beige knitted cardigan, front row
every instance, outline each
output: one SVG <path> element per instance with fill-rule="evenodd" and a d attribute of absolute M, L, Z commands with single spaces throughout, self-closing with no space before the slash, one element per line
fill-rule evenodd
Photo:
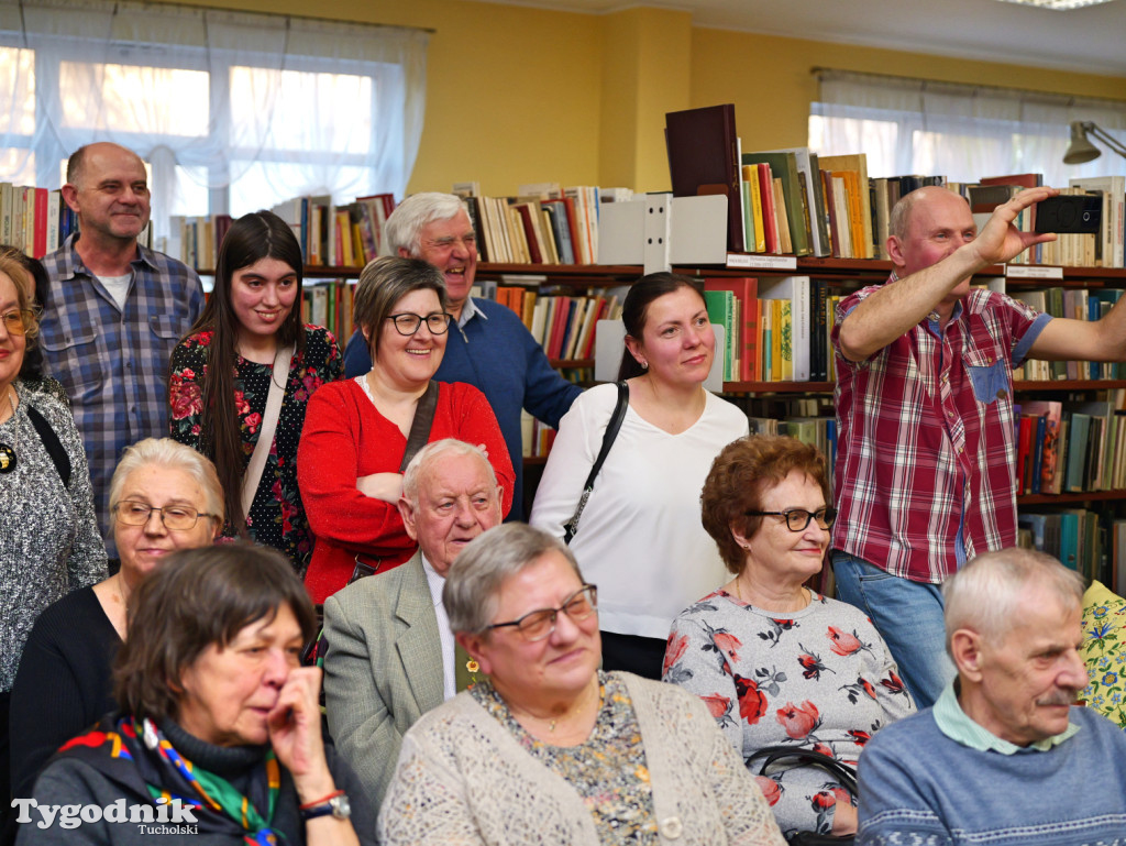
<path fill-rule="evenodd" d="M 384 846 L 781 846 L 698 698 L 599 671 L 598 593 L 560 541 L 519 523 L 485 532 L 443 604 L 477 678 L 404 736 Z"/>

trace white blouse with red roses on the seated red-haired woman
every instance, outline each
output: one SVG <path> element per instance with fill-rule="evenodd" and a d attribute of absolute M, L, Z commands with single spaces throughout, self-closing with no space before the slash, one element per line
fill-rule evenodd
<path fill-rule="evenodd" d="M 857 608 L 812 594 L 785 615 L 724 590 L 672 623 L 664 682 L 695 693 L 743 758 L 765 746 L 816 749 L 855 767 L 883 725 L 914 713 L 892 653 Z M 783 834 L 829 834 L 848 792 L 820 768 L 751 772 Z"/>

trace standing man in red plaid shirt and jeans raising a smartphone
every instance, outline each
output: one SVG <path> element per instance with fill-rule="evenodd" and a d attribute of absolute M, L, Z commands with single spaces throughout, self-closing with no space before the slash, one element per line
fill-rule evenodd
<path fill-rule="evenodd" d="M 838 595 L 872 617 L 920 709 L 954 676 L 939 586 L 1016 545 L 1012 368 L 1025 358 L 1126 358 L 1126 306 L 1053 319 L 971 277 L 1054 234 L 1013 225 L 1056 196 L 1030 188 L 982 229 L 959 195 L 927 187 L 892 211 L 884 285 L 838 306 L 832 561 Z"/>

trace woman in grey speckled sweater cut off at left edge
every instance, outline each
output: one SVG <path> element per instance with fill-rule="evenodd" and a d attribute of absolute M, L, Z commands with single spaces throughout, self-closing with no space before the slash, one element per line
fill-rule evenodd
<path fill-rule="evenodd" d="M 8 711 L 24 643 L 44 608 L 106 577 L 74 418 L 28 356 L 39 330 L 33 261 L 0 248 L 0 822 L 10 811 Z"/>

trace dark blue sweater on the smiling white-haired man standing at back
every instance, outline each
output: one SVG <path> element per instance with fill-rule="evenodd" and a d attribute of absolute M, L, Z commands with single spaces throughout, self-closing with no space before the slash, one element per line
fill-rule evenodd
<path fill-rule="evenodd" d="M 507 305 L 492 300 L 473 300 L 474 314 L 461 329 L 452 326 L 446 355 L 435 374 L 439 382 L 466 382 L 489 400 L 508 454 L 516 470 L 516 490 L 509 520 L 524 519 L 524 462 L 520 410 L 527 409 L 548 426 L 558 427 L 582 389 L 563 379 L 547 363 L 524 322 Z M 367 373 L 372 357 L 357 330 L 345 349 L 345 375 Z M 575 492 L 578 496 L 578 491 Z"/>

